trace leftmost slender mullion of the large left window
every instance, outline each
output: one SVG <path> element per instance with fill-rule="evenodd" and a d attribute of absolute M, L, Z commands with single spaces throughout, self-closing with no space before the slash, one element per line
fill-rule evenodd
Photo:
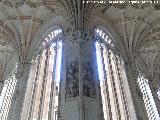
<path fill-rule="evenodd" d="M 33 110 L 34 110 L 34 105 L 35 105 L 35 98 L 36 98 L 36 93 L 37 93 L 37 87 L 38 87 L 38 76 L 40 73 L 40 59 L 42 56 L 38 56 L 37 58 L 37 68 L 36 68 L 36 76 L 35 76 L 35 80 L 34 80 L 34 86 L 33 86 L 33 92 L 32 92 L 32 97 L 31 97 L 31 102 L 30 102 L 30 109 L 29 109 L 29 116 L 28 116 L 28 120 L 31 120 L 31 118 L 33 118 Z"/>

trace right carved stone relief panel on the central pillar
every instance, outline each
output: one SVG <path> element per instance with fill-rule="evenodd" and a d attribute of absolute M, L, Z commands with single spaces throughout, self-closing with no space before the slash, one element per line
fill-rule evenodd
<path fill-rule="evenodd" d="M 86 97 L 95 97 L 95 82 L 94 82 L 94 72 L 93 67 L 90 62 L 82 64 L 82 73 L 83 73 L 83 95 Z"/>

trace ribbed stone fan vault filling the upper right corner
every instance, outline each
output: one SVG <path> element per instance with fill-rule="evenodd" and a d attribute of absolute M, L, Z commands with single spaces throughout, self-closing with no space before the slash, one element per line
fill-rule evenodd
<path fill-rule="evenodd" d="M 101 7 L 115 25 L 129 62 L 137 61 L 157 89 L 160 85 L 160 2 Z M 156 80 L 154 80 L 156 79 Z"/>

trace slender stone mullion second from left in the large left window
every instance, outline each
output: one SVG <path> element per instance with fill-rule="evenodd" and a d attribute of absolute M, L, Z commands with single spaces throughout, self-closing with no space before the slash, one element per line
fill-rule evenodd
<path fill-rule="evenodd" d="M 42 89 L 41 89 L 41 97 L 40 97 L 40 104 L 39 104 L 39 112 L 38 112 L 38 120 L 42 120 L 43 118 L 43 109 L 44 109 L 44 97 L 45 97 L 45 89 L 46 89 L 46 78 L 47 78 L 47 68 L 49 62 L 48 56 L 48 48 L 46 50 L 46 60 L 45 60 L 45 67 L 44 67 L 44 75 L 42 81 Z"/>

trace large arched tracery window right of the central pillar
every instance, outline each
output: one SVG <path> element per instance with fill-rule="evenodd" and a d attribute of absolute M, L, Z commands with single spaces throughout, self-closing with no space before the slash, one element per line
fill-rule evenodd
<path fill-rule="evenodd" d="M 104 118 L 128 120 L 130 115 L 126 94 L 130 92 L 129 88 L 124 87 L 124 84 L 128 84 L 123 60 L 118 55 L 113 37 L 106 29 L 97 27 L 95 40 Z"/>

